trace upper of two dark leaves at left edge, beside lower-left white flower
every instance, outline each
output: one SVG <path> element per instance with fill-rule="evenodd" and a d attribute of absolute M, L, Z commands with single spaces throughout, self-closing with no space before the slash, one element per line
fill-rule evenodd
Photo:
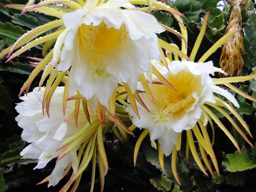
<path fill-rule="evenodd" d="M 0 155 L 15 148 L 24 147 L 25 144 L 26 142 L 21 139 L 20 135 L 13 135 L 0 143 Z"/>

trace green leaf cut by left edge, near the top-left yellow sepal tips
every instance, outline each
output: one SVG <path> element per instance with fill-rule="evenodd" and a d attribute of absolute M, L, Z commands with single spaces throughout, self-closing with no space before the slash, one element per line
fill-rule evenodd
<path fill-rule="evenodd" d="M 9 37 L 14 40 L 18 40 L 26 31 L 20 26 L 14 26 L 12 23 L 0 22 L 0 35 Z"/>

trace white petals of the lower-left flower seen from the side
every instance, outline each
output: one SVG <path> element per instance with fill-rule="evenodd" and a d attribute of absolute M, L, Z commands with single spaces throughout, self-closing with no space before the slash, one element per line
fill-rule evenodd
<path fill-rule="evenodd" d="M 79 111 L 78 126 L 76 127 L 74 117 L 68 117 L 75 109 L 75 101 L 68 101 L 66 115 L 63 117 L 62 100 L 64 87 L 57 87 L 53 93 L 50 104 L 50 118 L 43 115 L 42 100 L 44 96 L 44 87 L 38 91 L 38 87 L 29 92 L 26 96 L 20 97 L 23 102 L 19 103 L 15 109 L 20 113 L 16 117 L 18 125 L 24 129 L 21 137 L 23 140 L 31 143 L 21 153 L 26 158 L 38 159 L 35 169 L 41 169 L 53 158 L 60 155 L 62 149 L 57 148 L 79 131 L 88 121 L 83 110 Z M 83 109 L 83 108 L 82 108 Z M 71 115 L 72 116 L 72 115 Z M 69 154 L 60 159 L 49 177 L 49 186 L 56 185 L 63 176 L 63 172 L 68 164 L 72 161 L 72 168 L 76 172 L 78 162 L 76 156 L 76 146 Z"/>

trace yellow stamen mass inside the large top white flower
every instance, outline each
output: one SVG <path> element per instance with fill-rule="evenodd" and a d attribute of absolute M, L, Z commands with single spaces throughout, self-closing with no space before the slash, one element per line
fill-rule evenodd
<path fill-rule="evenodd" d="M 97 26 L 83 24 L 78 28 L 77 33 L 79 51 L 92 61 L 95 69 L 106 56 L 120 51 L 128 34 L 125 25 L 121 25 L 120 29 L 107 28 L 104 22 Z"/>

